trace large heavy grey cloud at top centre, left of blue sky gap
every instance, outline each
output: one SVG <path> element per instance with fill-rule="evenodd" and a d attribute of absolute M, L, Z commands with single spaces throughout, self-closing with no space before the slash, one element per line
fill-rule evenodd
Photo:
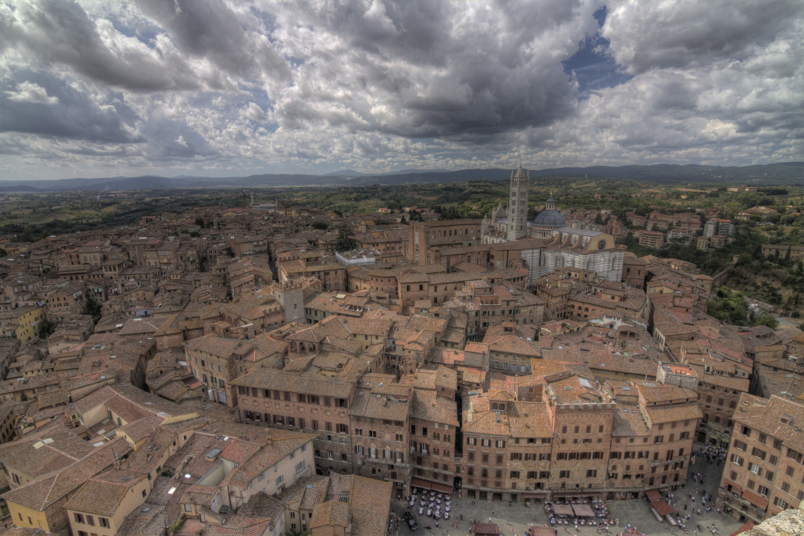
<path fill-rule="evenodd" d="M 279 98 L 279 121 L 414 138 L 504 133 L 567 117 L 576 85 L 556 57 L 572 56 L 597 29 L 593 11 L 571 2 L 294 6 L 314 28 L 316 54 Z"/>

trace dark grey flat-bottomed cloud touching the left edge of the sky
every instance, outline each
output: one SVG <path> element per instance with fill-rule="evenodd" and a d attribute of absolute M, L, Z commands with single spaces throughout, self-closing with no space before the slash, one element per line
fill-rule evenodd
<path fill-rule="evenodd" d="M 3 80 L 7 89 L 0 93 L 0 125 L 4 132 L 99 143 L 146 141 L 142 134 L 121 121 L 114 105 L 99 105 L 88 92 L 49 73 L 15 74 Z M 125 108 L 119 102 L 116 104 Z"/>

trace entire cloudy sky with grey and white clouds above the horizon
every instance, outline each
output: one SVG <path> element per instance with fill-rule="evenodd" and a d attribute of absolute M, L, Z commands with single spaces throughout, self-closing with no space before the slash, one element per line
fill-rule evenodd
<path fill-rule="evenodd" d="M 804 159 L 804 2 L 0 2 L 2 179 Z"/>

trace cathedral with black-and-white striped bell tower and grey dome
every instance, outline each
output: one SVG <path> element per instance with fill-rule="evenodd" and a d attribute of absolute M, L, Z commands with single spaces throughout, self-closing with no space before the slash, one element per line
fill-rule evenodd
<path fill-rule="evenodd" d="M 601 278 L 619 281 L 624 249 L 614 244 L 614 237 L 598 231 L 573 229 L 556 209 L 552 196 L 533 221 L 527 221 L 527 197 L 530 172 L 511 171 L 508 208 L 502 201 L 481 224 L 482 244 L 523 241 L 522 259 L 531 273 L 531 281 L 562 266 L 594 270 Z"/>

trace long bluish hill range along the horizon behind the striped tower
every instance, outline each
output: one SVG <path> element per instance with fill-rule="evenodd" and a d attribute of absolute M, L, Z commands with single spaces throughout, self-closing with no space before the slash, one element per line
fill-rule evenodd
<path fill-rule="evenodd" d="M 762 183 L 800 184 L 804 162 L 773 163 L 764 166 L 686 166 L 657 164 L 654 166 L 591 166 L 556 167 L 531 170 L 531 178 L 585 177 L 590 179 L 629 179 L 644 183 Z M 124 190 L 154 188 L 217 188 L 259 186 L 362 186 L 366 184 L 453 183 L 467 180 L 504 180 L 511 177 L 510 169 L 463 169 L 460 171 L 400 170 L 390 173 L 366 175 L 344 170 L 326 175 L 263 174 L 248 177 L 110 177 L 101 179 L 59 180 L 2 180 L 2 192 L 42 192 L 58 190 Z"/>

